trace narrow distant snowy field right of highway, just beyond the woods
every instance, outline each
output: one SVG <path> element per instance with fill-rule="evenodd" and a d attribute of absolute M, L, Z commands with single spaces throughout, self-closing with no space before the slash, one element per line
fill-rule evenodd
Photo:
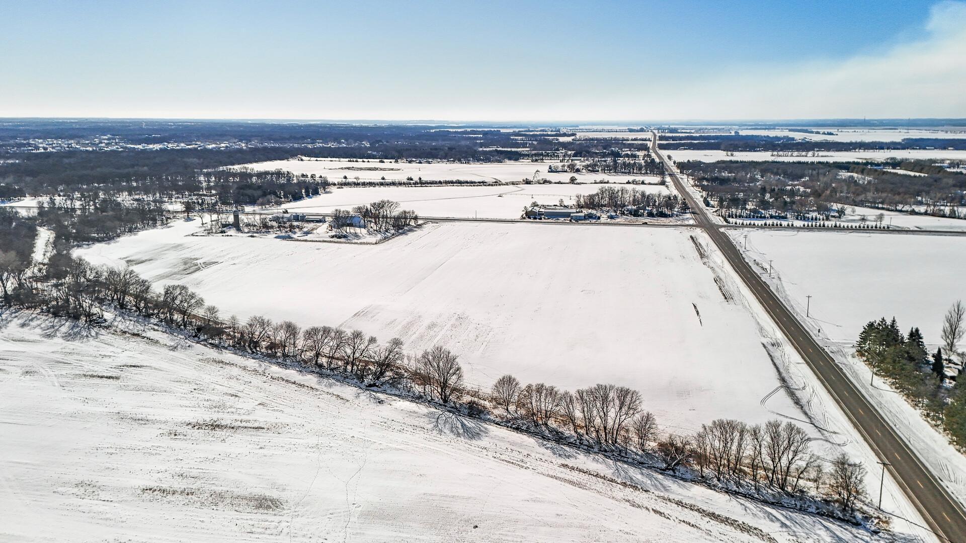
<path fill-rule="evenodd" d="M 936 159 L 966 159 L 966 151 L 926 150 L 926 149 L 894 149 L 889 151 L 823 151 L 818 157 L 773 157 L 770 151 L 738 151 L 733 157 L 725 155 L 721 150 L 699 149 L 668 149 L 665 155 L 674 161 L 701 160 L 703 162 L 717 162 L 719 160 L 774 160 L 781 162 L 832 162 L 832 161 L 866 161 L 886 160 L 888 158 L 936 158 Z"/>

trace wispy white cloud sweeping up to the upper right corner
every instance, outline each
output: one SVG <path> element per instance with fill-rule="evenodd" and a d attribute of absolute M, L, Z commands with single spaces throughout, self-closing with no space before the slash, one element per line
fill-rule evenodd
<path fill-rule="evenodd" d="M 643 118 L 966 117 L 966 3 L 935 5 L 919 39 L 878 54 L 696 79 Z"/>

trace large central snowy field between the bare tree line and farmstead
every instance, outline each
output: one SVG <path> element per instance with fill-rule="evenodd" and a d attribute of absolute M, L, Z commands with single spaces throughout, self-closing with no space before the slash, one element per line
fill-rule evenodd
<path fill-rule="evenodd" d="M 571 389 L 632 386 L 685 428 L 796 411 L 783 392 L 759 403 L 780 385 L 767 338 L 744 305 L 725 300 L 716 277 L 729 296 L 735 289 L 702 264 L 695 230 L 440 223 L 362 246 L 185 237 L 194 228 L 179 222 L 77 254 L 184 283 L 241 318 L 399 336 L 412 351 L 442 344 L 479 386 L 504 373 Z"/>

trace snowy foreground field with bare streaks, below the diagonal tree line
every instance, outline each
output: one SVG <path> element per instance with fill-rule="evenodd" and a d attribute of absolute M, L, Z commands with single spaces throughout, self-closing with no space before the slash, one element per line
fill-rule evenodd
<path fill-rule="evenodd" d="M 880 540 L 127 329 L 0 321 L 0 539 Z"/>

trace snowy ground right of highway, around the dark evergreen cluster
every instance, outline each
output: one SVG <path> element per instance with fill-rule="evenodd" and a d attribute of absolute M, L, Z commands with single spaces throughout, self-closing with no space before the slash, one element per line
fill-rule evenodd
<path fill-rule="evenodd" d="M 966 456 L 888 386 L 869 386 L 869 370 L 852 345 L 868 321 L 895 316 L 899 327 L 940 342 L 942 319 L 966 300 L 966 238 L 861 232 L 728 230 L 785 304 L 817 334 L 842 368 L 916 448 L 955 496 L 966 496 Z M 772 277 L 765 272 L 772 261 Z M 811 296 L 809 301 L 806 297 Z M 805 315 L 808 312 L 809 318 Z"/>

